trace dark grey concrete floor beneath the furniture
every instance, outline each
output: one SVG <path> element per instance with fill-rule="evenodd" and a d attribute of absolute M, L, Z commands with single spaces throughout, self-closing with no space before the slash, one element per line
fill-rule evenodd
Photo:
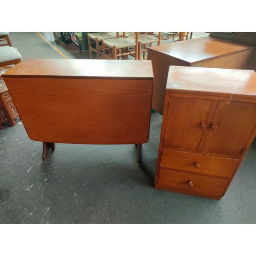
<path fill-rule="evenodd" d="M 54 41 L 69 58 L 84 51 Z M 203 36 L 204 33 L 194 32 Z M 11 32 L 26 58 L 63 58 L 34 32 Z M 221 200 L 154 188 L 162 116 L 153 113 L 150 140 L 135 145 L 56 144 L 47 161 L 22 121 L 0 131 L 0 223 L 255 223 L 256 142 Z M 67 123 L 68 125 L 72 125 Z"/>

